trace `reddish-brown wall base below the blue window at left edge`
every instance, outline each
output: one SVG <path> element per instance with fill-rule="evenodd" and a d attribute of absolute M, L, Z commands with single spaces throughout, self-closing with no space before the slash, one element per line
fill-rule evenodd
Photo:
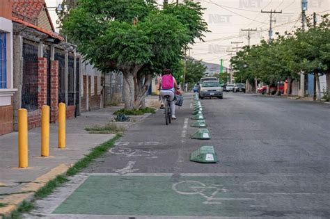
<path fill-rule="evenodd" d="M 14 130 L 14 106 L 0 106 L 0 136 Z"/>

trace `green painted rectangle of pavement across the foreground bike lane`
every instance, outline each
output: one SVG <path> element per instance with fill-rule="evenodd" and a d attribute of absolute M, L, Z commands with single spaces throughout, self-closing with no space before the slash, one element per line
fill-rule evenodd
<path fill-rule="evenodd" d="M 235 185 L 237 178 L 219 176 L 90 176 L 51 216 L 246 217 L 256 197 Z"/>

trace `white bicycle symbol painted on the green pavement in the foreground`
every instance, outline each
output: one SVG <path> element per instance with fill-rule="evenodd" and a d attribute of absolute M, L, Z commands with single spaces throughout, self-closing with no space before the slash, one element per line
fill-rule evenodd
<path fill-rule="evenodd" d="M 228 189 L 219 184 L 207 186 L 201 181 L 180 181 L 173 184 L 172 189 L 180 195 L 201 195 L 205 198 L 203 204 L 222 204 L 221 201 L 228 200 L 255 200 L 254 198 L 244 197 L 216 197 L 218 193 L 228 193 Z"/>

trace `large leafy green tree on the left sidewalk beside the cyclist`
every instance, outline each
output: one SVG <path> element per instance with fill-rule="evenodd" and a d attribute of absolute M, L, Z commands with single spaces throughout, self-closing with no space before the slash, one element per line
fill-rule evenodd
<path fill-rule="evenodd" d="M 81 0 L 63 17 L 63 33 L 98 69 L 123 72 L 125 108 L 139 108 L 152 76 L 178 65 L 184 45 L 207 30 L 199 3 L 178 8 L 184 13 L 153 1 Z"/>

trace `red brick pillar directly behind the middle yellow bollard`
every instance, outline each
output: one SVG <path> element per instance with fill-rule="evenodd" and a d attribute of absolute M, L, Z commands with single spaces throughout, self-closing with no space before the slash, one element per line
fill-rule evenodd
<path fill-rule="evenodd" d="M 47 58 L 38 58 L 38 108 L 47 104 Z"/>

